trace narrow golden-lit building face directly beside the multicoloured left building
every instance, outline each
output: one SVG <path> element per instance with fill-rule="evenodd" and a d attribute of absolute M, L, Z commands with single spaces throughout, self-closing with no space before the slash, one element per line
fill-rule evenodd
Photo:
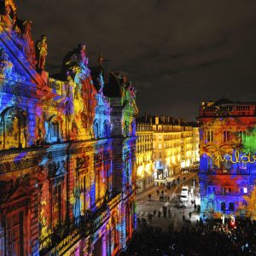
<path fill-rule="evenodd" d="M 137 119 L 137 191 L 154 185 L 153 129 L 143 118 Z"/>

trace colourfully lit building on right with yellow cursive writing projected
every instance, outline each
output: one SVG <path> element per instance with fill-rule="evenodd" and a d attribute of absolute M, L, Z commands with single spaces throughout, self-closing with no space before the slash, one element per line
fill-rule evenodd
<path fill-rule="evenodd" d="M 200 107 L 201 217 L 256 217 L 256 103 Z"/>

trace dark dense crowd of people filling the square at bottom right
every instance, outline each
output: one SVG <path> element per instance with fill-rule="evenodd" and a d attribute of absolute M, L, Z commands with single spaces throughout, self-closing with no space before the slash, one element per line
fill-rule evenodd
<path fill-rule="evenodd" d="M 195 225 L 184 222 L 181 230 L 160 230 L 141 224 L 130 246 L 122 255 L 255 255 L 256 222 L 236 219 L 234 225 L 208 220 Z"/>

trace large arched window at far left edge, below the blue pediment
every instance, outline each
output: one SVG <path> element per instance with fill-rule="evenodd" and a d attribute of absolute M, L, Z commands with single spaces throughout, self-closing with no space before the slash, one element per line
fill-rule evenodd
<path fill-rule="evenodd" d="M 26 147 L 26 113 L 8 108 L 1 114 L 0 145 L 3 149 Z"/>

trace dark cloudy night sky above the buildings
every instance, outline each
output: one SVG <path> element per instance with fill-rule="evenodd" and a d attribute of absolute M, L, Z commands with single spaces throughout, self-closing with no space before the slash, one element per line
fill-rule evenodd
<path fill-rule="evenodd" d="M 193 119 L 201 102 L 256 100 L 255 0 L 16 0 L 46 34 L 55 73 L 68 50 L 99 50 L 137 87 L 140 113 Z"/>

